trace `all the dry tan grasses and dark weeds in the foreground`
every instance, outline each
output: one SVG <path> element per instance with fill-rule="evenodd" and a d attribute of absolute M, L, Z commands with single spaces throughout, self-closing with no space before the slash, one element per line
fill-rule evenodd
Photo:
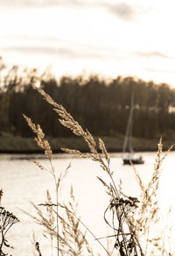
<path fill-rule="evenodd" d="M 158 144 L 158 154 L 154 171 L 148 184 L 144 184 L 137 170 L 133 167 L 141 189 L 141 197 L 138 200 L 136 197 L 124 195 L 121 186 L 118 185 L 119 182 L 113 179 L 109 154 L 102 139 L 98 139 L 96 143 L 91 133 L 87 129 L 84 130 L 59 103 L 55 103 L 42 89 L 34 88 L 45 98 L 47 103 L 52 105 L 53 110 L 59 117 L 59 123 L 72 131 L 76 136 L 84 139 L 89 149 L 89 153 L 83 153 L 80 150 L 69 148 L 62 148 L 62 151 L 75 153 L 82 158 L 91 158 L 98 162 L 102 167 L 103 173 L 106 174 L 105 179 L 98 177 L 98 180 L 101 181 L 102 186 L 109 196 L 109 206 L 104 210 L 104 221 L 111 228 L 112 234 L 110 238 L 112 239 L 112 247 L 107 249 L 102 245 L 101 239 L 96 238 L 95 234 L 77 216 L 76 202 L 72 188 L 69 203 L 59 203 L 60 184 L 66 176 L 69 166 L 64 172 L 60 174 L 56 173 L 52 162 L 52 149 L 48 140 L 45 139 L 45 133 L 39 124 L 32 123 L 31 118 L 24 115 L 25 120 L 31 127 L 31 131 L 36 135 L 35 141 L 37 145 L 45 151 L 45 156 L 50 162 L 50 168 L 45 168 L 38 161 L 35 161 L 35 163 L 42 171 L 45 170 L 52 175 L 56 195 L 56 200 L 52 201 L 52 197 L 49 191 L 47 191 L 45 203 L 40 203 L 39 205 L 32 203 L 37 211 L 37 216 L 31 216 L 29 213 L 26 214 L 45 228 L 45 234 L 50 238 L 52 248 L 56 246 L 55 255 L 95 255 L 86 238 L 86 232 L 90 233 L 96 239 L 96 242 L 102 246 L 102 255 L 173 255 L 171 246 L 167 246 L 168 241 L 166 240 L 164 228 L 160 231 L 161 216 L 158 207 L 158 186 L 161 165 L 168 153 L 162 156 L 161 139 Z M 101 153 L 98 152 L 97 147 Z M 120 177 L 118 178 L 120 179 Z M 108 213 L 110 213 L 110 218 Z M 1 220 L 3 219 L 4 214 L 1 214 Z M 81 231 L 81 226 L 86 228 L 87 231 Z M 158 233 L 156 232 L 157 228 Z M 4 233 L 4 225 L 1 225 L 1 233 Z M 1 255 L 7 255 L 3 251 L 4 246 L 6 245 L 2 242 Z M 35 243 L 35 248 L 38 255 L 41 256 L 42 252 L 38 242 Z"/>

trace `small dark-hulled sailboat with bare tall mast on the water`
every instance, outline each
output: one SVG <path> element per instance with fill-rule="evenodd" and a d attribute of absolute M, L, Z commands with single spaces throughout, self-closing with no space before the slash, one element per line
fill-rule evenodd
<path fill-rule="evenodd" d="M 127 156 L 123 157 L 123 164 L 130 165 L 144 164 L 142 156 L 137 156 L 132 147 L 132 129 L 133 129 L 133 112 L 134 112 L 134 94 L 131 96 L 130 100 L 130 116 L 126 128 L 126 134 L 123 143 L 123 153 L 129 152 Z"/>

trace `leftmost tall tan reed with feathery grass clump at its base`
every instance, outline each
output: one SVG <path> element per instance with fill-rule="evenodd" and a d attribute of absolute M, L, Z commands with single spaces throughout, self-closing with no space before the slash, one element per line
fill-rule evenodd
<path fill-rule="evenodd" d="M 32 123 L 31 118 L 26 117 L 25 115 L 24 117 L 27 124 L 29 124 L 29 126 L 31 127 L 32 132 L 36 134 L 35 141 L 37 142 L 38 146 L 44 149 L 45 155 L 49 160 L 50 168 L 44 167 L 36 160 L 33 161 L 42 171 L 45 170 L 52 175 L 55 186 L 56 201 L 52 201 L 52 197 L 47 190 L 45 203 L 40 203 L 40 205 L 38 206 L 35 203 L 31 203 L 37 211 L 38 217 L 32 216 L 30 213 L 25 212 L 25 210 L 22 211 L 30 216 L 36 223 L 42 225 L 45 228 L 44 235 L 45 237 L 50 237 L 51 247 L 53 246 L 53 239 L 56 238 L 57 255 L 83 255 L 81 253 L 84 252 L 86 252 L 87 255 L 94 255 L 94 252 L 88 244 L 88 240 L 86 238 L 86 231 L 83 232 L 80 228 L 80 224 L 82 224 L 84 225 L 85 229 L 89 231 L 88 227 L 86 227 L 86 225 L 81 222 L 81 218 L 77 217 L 77 203 L 75 203 L 75 199 L 73 196 L 73 188 L 71 188 L 70 191 L 70 201 L 68 205 L 66 205 L 66 203 L 59 203 L 59 188 L 62 181 L 66 177 L 68 169 L 70 168 L 70 164 L 66 167 L 66 170 L 64 172 L 61 172 L 59 175 L 56 174 L 55 168 L 53 167 L 52 163 L 52 149 L 49 145 L 49 142 L 45 139 L 44 132 L 42 131 L 39 124 L 35 125 Z M 41 206 L 45 207 L 45 213 L 44 210 L 40 209 Z M 91 231 L 89 232 L 95 237 L 95 235 Z M 99 243 L 101 244 L 101 242 Z M 35 247 L 40 255 L 41 252 L 38 242 L 35 243 Z M 104 248 L 104 250 L 106 249 Z"/>

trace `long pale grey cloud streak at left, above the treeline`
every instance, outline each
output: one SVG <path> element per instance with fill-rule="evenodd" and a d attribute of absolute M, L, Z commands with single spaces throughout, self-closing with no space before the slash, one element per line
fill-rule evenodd
<path fill-rule="evenodd" d="M 54 55 L 66 59 L 121 59 L 122 55 L 108 46 L 94 46 L 54 36 L 8 35 L 0 36 L 0 50 L 21 54 Z M 7 44 L 11 42 L 11 44 Z M 7 46 L 8 45 L 8 46 Z"/>

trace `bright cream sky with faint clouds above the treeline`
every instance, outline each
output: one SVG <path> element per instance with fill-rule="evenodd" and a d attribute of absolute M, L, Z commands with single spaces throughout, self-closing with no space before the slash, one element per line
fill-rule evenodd
<path fill-rule="evenodd" d="M 172 0 L 0 0 L 7 65 L 62 75 L 131 75 L 175 87 Z"/>

